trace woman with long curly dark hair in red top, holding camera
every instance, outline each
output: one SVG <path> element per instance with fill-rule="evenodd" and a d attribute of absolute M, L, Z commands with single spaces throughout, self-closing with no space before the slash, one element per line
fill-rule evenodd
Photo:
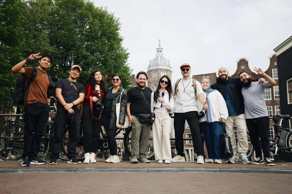
<path fill-rule="evenodd" d="M 105 80 L 102 78 L 100 70 L 93 70 L 84 85 L 86 96 L 84 97 L 82 112 L 85 152 L 83 163 L 96 163 L 95 153 L 100 137 L 101 109 L 97 109 L 95 104 L 98 101 L 102 102 L 106 92 Z"/>

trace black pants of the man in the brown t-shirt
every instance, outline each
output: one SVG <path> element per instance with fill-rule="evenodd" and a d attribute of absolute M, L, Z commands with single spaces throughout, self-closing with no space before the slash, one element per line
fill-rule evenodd
<path fill-rule="evenodd" d="M 50 106 L 43 103 L 32 103 L 25 106 L 25 129 L 23 157 L 37 157 L 41 147 L 41 136 L 48 122 Z"/>

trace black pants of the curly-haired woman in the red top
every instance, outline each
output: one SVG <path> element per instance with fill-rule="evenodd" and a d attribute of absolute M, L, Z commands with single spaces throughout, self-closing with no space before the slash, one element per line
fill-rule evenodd
<path fill-rule="evenodd" d="M 96 153 L 100 137 L 101 119 L 92 118 L 89 104 L 83 105 L 82 124 L 84 152 Z"/>

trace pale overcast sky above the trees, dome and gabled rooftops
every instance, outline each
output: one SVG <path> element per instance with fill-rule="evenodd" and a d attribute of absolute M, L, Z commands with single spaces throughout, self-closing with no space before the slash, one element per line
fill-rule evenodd
<path fill-rule="evenodd" d="M 190 63 L 192 75 L 217 72 L 221 66 L 233 74 L 242 57 L 251 70 L 266 70 L 273 49 L 292 35 L 290 0 L 93 2 L 119 18 L 133 74 L 147 71 L 160 39 L 172 82 L 182 77 L 183 63 Z"/>

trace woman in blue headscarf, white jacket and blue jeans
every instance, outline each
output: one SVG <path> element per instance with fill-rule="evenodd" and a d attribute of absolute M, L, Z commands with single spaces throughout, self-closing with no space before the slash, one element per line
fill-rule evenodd
<path fill-rule="evenodd" d="M 208 105 L 208 110 L 205 110 L 205 116 L 199 120 L 208 151 L 209 159 L 207 160 L 209 163 L 221 164 L 223 156 L 219 136 L 222 134 L 222 124 L 228 117 L 227 106 L 221 93 L 211 89 L 209 77 L 203 77 L 201 85 Z M 201 105 L 200 103 L 197 104 Z M 198 108 L 203 109 L 202 107 Z"/>

